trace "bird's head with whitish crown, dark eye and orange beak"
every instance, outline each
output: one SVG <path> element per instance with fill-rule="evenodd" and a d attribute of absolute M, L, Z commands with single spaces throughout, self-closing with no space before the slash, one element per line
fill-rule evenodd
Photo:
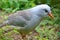
<path fill-rule="evenodd" d="M 35 11 L 35 14 L 37 14 L 38 16 L 46 17 L 47 15 L 49 15 L 52 19 L 54 18 L 51 13 L 50 6 L 48 6 L 47 4 L 41 4 L 36 6 L 34 7 L 33 11 Z"/>

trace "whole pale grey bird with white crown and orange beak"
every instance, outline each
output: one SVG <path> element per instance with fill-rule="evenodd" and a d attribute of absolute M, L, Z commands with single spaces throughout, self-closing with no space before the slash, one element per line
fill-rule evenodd
<path fill-rule="evenodd" d="M 3 22 L 0 27 L 7 24 L 13 25 L 22 35 L 26 35 L 33 31 L 39 25 L 41 19 L 47 17 L 47 15 L 54 18 L 51 14 L 50 6 L 47 4 L 37 5 L 33 8 L 17 11 L 9 15 L 8 19 Z"/>

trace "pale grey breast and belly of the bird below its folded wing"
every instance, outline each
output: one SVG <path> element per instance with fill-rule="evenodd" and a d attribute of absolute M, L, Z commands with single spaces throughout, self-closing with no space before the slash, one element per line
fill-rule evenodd
<path fill-rule="evenodd" d="M 34 30 L 37 25 L 40 23 L 40 17 L 33 15 L 32 19 L 24 25 L 24 27 L 16 27 L 20 33 L 29 33 L 30 31 Z"/>

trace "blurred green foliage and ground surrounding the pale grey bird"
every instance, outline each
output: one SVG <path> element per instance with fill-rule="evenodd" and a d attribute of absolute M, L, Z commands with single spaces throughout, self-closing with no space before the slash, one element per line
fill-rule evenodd
<path fill-rule="evenodd" d="M 34 36 L 32 33 L 32 40 L 60 40 L 60 0 L 0 0 L 0 23 L 18 10 L 32 8 L 40 4 L 48 4 L 55 19 L 44 18 L 36 28 L 39 35 Z M 0 28 L 0 40 L 20 40 L 19 33 L 15 29 L 9 31 L 8 26 Z"/>

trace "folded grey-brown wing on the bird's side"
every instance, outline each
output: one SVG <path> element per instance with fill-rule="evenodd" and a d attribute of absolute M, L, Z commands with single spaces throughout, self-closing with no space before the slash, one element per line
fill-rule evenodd
<path fill-rule="evenodd" d="M 18 11 L 8 17 L 9 24 L 24 27 L 31 19 L 31 14 L 26 11 Z"/>

